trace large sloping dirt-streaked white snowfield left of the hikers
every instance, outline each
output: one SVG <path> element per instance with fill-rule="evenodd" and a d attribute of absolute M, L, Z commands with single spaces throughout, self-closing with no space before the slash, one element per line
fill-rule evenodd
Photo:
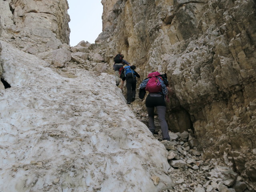
<path fill-rule="evenodd" d="M 126 106 L 113 76 L 77 69 L 76 78 L 65 78 L 1 43 L 11 88 L 0 90 L 0 191 L 155 192 L 173 185 L 168 152 Z"/>

